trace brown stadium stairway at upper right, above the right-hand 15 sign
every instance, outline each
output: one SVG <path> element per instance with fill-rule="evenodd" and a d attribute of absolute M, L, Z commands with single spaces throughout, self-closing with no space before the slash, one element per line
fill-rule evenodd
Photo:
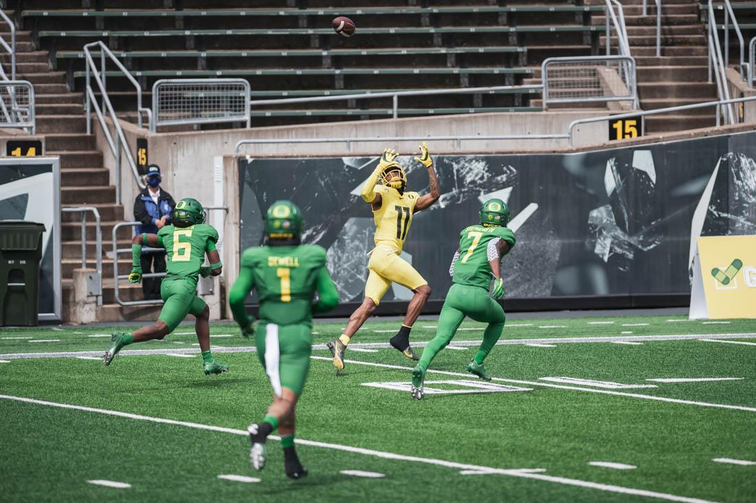
<path fill-rule="evenodd" d="M 717 87 L 707 82 L 705 24 L 699 20 L 699 0 L 662 2 L 662 51 L 656 56 L 656 6 L 643 0 L 622 0 L 630 51 L 637 64 L 638 94 L 643 110 L 676 107 L 717 99 Z M 594 24 L 605 23 L 603 16 Z M 601 44 L 604 44 L 601 37 Z M 734 38 L 734 37 L 733 37 Z M 646 117 L 646 132 L 674 132 L 714 126 L 714 107 Z"/>

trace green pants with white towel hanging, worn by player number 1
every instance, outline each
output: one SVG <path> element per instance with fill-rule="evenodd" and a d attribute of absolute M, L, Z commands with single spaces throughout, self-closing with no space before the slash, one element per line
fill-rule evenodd
<path fill-rule="evenodd" d="M 310 371 L 312 327 L 310 324 L 278 325 L 260 321 L 255 334 L 260 359 L 276 396 L 281 388 L 302 394 Z"/>

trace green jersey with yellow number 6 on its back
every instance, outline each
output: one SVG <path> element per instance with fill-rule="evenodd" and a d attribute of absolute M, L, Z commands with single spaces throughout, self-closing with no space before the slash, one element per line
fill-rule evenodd
<path fill-rule="evenodd" d="M 157 237 L 167 254 L 165 279 L 188 279 L 196 285 L 205 253 L 216 250 L 218 231 L 207 224 L 184 228 L 166 225 L 157 231 Z"/>

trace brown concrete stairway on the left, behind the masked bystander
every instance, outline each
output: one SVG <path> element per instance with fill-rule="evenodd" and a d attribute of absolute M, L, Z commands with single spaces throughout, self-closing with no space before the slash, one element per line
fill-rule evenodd
<path fill-rule="evenodd" d="M 5 11 L 12 18 L 12 11 Z M 10 33 L 0 33 L 6 40 Z M 109 250 L 113 225 L 124 219 L 123 206 L 115 203 L 116 188 L 110 185 L 110 172 L 104 167 L 103 154 L 95 144 L 95 135 L 86 134 L 86 118 L 81 92 L 69 92 L 65 72 L 49 69 L 48 51 L 33 48 L 31 33 L 16 32 L 17 78 L 34 85 L 37 133 L 45 136 L 45 154 L 60 157 L 60 203 L 64 207 L 95 206 L 102 220 L 103 250 Z M 3 64 L 8 56 L 0 57 Z M 132 197 L 125 194 L 125 197 Z M 73 270 L 82 263 L 81 214 L 62 213 L 60 218 L 63 318 L 70 320 L 73 303 Z M 95 267 L 95 222 L 91 213 L 86 228 L 88 267 Z M 119 247 L 129 247 L 130 239 L 119 240 Z M 112 245 L 111 245 L 112 246 Z M 126 270 L 131 260 L 119 262 Z M 155 308 L 124 308 L 116 304 L 113 288 L 113 260 L 103 256 L 103 306 L 98 319 L 117 321 L 154 318 Z M 141 300 L 141 288 L 122 285 L 120 296 L 125 300 Z"/>

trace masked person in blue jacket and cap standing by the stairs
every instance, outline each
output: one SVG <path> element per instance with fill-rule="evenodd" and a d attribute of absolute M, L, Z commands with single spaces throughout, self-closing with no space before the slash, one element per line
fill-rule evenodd
<path fill-rule="evenodd" d="M 136 234 L 147 232 L 157 234 L 157 231 L 171 223 L 175 200 L 168 192 L 160 188 L 162 178 L 160 166 L 150 164 L 147 166 L 147 188 L 141 191 L 134 201 L 134 219 L 141 222 L 136 226 Z M 142 252 L 142 272 L 166 272 L 166 252 Z M 160 299 L 160 284 L 162 278 L 144 278 L 142 280 L 142 292 L 145 300 Z"/>

